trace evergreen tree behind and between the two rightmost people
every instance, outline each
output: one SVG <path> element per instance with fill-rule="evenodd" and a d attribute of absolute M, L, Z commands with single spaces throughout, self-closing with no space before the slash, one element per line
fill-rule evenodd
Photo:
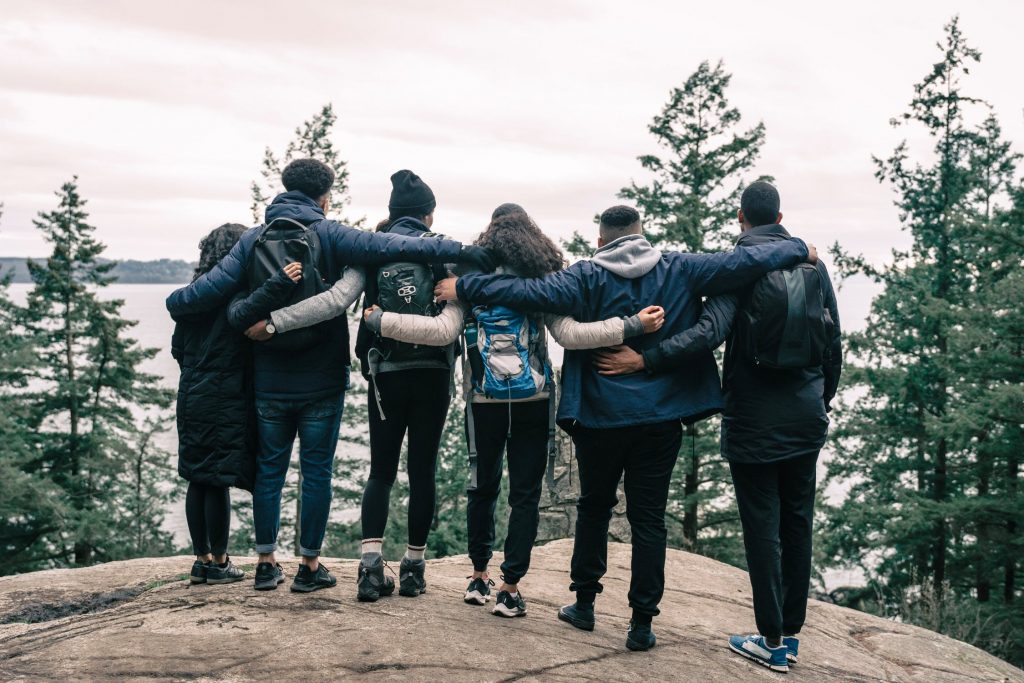
<path fill-rule="evenodd" d="M 731 78 L 721 61 L 714 67 L 703 61 L 672 89 L 648 126 L 665 156 L 640 157 L 652 179 L 647 184 L 632 181 L 620 191 L 622 199 L 636 204 L 645 237 L 663 249 L 731 249 L 735 241 L 741 176 L 761 153 L 765 127 L 740 128 L 739 110 L 726 95 Z M 590 253 L 579 233 L 565 247 L 579 256 Z M 743 566 L 729 471 L 719 453 L 719 426 L 715 418 L 687 430 L 667 511 L 675 522 L 670 543 Z"/>

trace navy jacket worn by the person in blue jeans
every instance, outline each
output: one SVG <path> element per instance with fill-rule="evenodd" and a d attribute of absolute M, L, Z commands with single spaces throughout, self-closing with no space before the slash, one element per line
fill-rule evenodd
<path fill-rule="evenodd" d="M 310 198 L 284 193 L 266 208 L 266 222 L 291 218 L 319 237 L 323 269 L 330 283 L 347 265 L 381 265 L 391 261 L 452 262 L 462 245 L 451 240 L 419 240 L 358 230 L 334 220 Z M 202 313 L 227 305 L 248 287 L 248 265 L 259 230 L 250 229 L 210 272 L 167 297 L 172 316 Z M 266 310 L 264 315 L 269 315 Z M 259 398 L 308 400 L 344 390 L 350 365 L 348 322 L 340 315 L 325 324 L 325 341 L 305 350 L 255 345 L 255 391 Z"/>

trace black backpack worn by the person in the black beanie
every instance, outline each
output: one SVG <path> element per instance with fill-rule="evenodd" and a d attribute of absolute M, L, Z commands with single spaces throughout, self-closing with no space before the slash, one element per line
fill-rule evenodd
<path fill-rule="evenodd" d="M 435 232 L 423 232 L 420 239 L 441 239 Z M 377 305 L 389 313 L 413 313 L 435 316 L 440 312 L 434 303 L 434 283 L 444 276 L 437 268 L 425 263 L 398 261 L 377 269 Z M 451 360 L 451 348 L 410 344 L 378 337 L 375 346 L 384 359 Z"/>

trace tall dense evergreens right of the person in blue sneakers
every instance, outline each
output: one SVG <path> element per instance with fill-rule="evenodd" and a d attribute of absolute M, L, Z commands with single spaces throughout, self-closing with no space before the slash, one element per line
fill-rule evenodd
<path fill-rule="evenodd" d="M 873 267 L 835 248 L 844 273 L 885 289 L 866 330 L 850 336 L 845 383 L 859 390 L 842 403 L 829 463 L 829 479 L 850 487 L 829 511 L 822 540 L 834 559 L 864 568 L 890 604 L 933 598 L 934 609 L 905 607 L 904 618 L 1008 655 L 1009 612 L 984 603 L 994 585 L 1002 584 L 1007 605 L 1018 592 L 1021 545 L 1013 532 L 1022 519 L 1024 442 L 1013 297 L 1021 293 L 1024 222 L 1017 198 L 1004 203 L 1019 156 L 994 117 L 968 123 L 969 110 L 984 102 L 966 94 L 962 80 L 980 53 L 957 19 L 939 49 L 941 60 L 894 120 L 928 132 L 932 160 L 911 161 L 906 142 L 876 160 L 879 180 L 896 193 L 909 249 Z M 955 632 L 965 610 L 967 621 L 987 626 Z"/>

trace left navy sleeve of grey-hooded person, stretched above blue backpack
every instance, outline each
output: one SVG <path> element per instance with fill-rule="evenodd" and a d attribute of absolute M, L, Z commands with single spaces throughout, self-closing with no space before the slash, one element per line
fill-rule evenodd
<path fill-rule="evenodd" d="M 587 295 L 583 267 L 581 261 L 545 278 L 469 273 L 459 279 L 456 291 L 459 300 L 467 303 L 581 315 Z"/>

